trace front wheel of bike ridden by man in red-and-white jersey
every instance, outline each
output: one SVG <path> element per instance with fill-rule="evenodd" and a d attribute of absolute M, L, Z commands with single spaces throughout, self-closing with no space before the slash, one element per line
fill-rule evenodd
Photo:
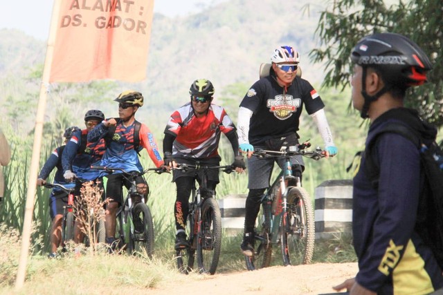
<path fill-rule="evenodd" d="M 200 271 L 215 274 L 221 250 L 221 213 L 214 198 L 204 201 L 197 234 L 197 263 Z"/>

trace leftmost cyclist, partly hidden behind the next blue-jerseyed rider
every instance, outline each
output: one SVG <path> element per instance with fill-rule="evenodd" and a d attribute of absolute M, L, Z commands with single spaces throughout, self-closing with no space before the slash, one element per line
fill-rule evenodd
<path fill-rule="evenodd" d="M 39 173 L 37 179 L 37 186 L 42 187 L 46 184 L 46 178 L 57 167 L 57 171 L 54 175 L 54 183 L 62 184 L 66 188 L 73 188 L 74 184 L 71 182 L 66 182 L 63 177 L 63 167 L 62 167 L 62 154 L 66 143 L 71 139 L 73 133 L 81 131 L 77 126 L 69 127 L 64 131 L 64 145 L 57 147 L 49 156 L 48 160 L 43 165 L 42 170 Z M 62 241 L 62 218 L 63 218 L 63 207 L 68 204 L 68 195 L 62 189 L 55 187 L 51 191 L 51 196 L 49 196 L 49 214 L 53 220 L 51 227 L 51 253 L 48 255 L 49 258 L 55 258 L 57 256 L 57 248 L 60 247 L 60 242 Z"/>

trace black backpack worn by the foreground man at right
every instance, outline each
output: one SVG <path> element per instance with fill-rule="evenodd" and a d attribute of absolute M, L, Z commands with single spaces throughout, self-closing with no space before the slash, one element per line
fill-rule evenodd
<path fill-rule="evenodd" d="M 433 128 L 426 122 L 423 124 L 425 129 Z M 386 132 L 398 133 L 408 138 L 420 151 L 421 177 L 424 183 L 420 189 L 415 229 L 426 245 L 431 247 L 438 265 L 443 269 L 443 151 L 435 139 L 430 142 L 405 124 L 387 122 L 368 142 L 364 151 L 366 172 L 374 188 L 378 187 L 379 166 L 373 159 L 372 149 L 377 137 Z"/>

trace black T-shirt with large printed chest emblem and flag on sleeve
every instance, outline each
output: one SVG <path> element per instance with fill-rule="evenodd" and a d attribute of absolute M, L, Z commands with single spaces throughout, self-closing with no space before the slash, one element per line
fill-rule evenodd
<path fill-rule="evenodd" d="M 296 77 L 290 86 L 282 87 L 274 75 L 255 82 L 240 104 L 253 112 L 248 134 L 253 145 L 296 133 L 303 106 L 309 115 L 325 107 L 307 80 Z"/>

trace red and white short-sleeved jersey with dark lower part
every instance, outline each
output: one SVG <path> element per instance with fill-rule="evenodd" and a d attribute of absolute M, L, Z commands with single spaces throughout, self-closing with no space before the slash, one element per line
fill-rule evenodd
<path fill-rule="evenodd" d="M 172 113 L 165 128 L 165 133 L 176 137 L 172 146 L 174 156 L 197 159 L 217 156 L 221 133 L 233 131 L 234 122 L 224 108 L 211 104 L 206 115 L 196 117 L 190 102 Z"/>

